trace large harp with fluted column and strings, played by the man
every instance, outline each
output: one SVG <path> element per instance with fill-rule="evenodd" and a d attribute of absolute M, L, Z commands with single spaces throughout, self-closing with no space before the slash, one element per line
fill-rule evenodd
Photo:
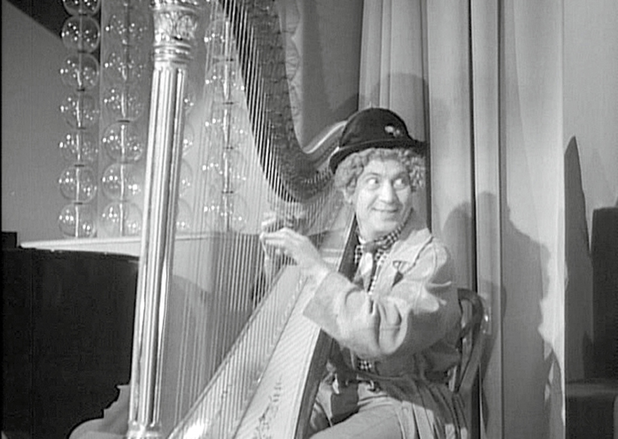
<path fill-rule="evenodd" d="M 294 216 L 341 266 L 352 215 L 326 166 L 342 124 L 305 150 L 295 137 L 275 6 L 153 1 L 127 437 L 303 436 L 329 341 L 302 317 L 315 286 L 293 264 L 260 281 L 259 221 Z M 183 161 L 200 170 L 186 192 Z"/>

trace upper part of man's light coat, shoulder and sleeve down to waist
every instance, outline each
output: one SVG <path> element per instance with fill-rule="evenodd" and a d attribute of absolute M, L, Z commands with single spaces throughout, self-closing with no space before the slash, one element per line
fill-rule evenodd
<path fill-rule="evenodd" d="M 459 360 L 461 312 L 452 279 L 446 247 L 412 214 L 371 293 L 333 271 L 304 313 L 342 347 L 375 361 L 381 377 L 423 378 Z"/>

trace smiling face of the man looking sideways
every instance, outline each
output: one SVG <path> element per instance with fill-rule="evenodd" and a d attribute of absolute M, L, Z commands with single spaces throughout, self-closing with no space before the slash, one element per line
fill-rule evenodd
<path fill-rule="evenodd" d="M 412 189 L 405 167 L 395 159 L 371 160 L 346 195 L 356 211 L 360 236 L 373 241 L 394 231 L 412 210 Z"/>

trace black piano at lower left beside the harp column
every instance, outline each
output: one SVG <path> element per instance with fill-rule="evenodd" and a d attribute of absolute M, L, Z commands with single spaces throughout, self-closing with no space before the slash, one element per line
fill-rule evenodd
<path fill-rule="evenodd" d="M 2 249 L 9 439 L 64 439 L 129 382 L 137 271 L 129 255 Z"/>

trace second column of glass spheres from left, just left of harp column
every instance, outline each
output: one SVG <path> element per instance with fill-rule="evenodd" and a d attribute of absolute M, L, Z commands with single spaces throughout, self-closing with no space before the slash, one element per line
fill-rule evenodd
<path fill-rule="evenodd" d="M 137 236 L 142 229 L 151 15 L 147 0 L 106 0 L 101 7 L 101 231 Z"/>

